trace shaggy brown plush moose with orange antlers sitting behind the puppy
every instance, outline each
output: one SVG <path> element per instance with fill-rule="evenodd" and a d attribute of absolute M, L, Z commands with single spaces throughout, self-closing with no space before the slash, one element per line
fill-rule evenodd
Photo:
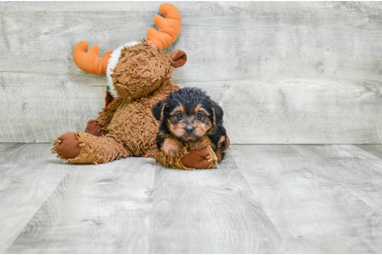
<path fill-rule="evenodd" d="M 179 90 L 171 82 L 172 71 L 187 61 L 186 54 L 179 49 L 174 53 L 162 51 L 180 33 L 182 21 L 178 9 L 162 4 L 159 12 L 165 17 L 154 17 L 160 31 L 149 29 L 147 41 L 109 50 L 101 59 L 98 46 L 88 50 L 84 41 L 76 45 L 73 51 L 76 65 L 90 74 L 107 73 L 111 89 L 106 92 L 106 108 L 97 119 L 88 121 L 85 132 L 67 132 L 53 142 L 52 153 L 57 153 L 58 158 L 94 164 L 132 155 L 156 158 L 155 137 L 160 122 L 153 117 L 152 108 L 171 91 Z M 211 168 L 213 163 L 210 148 L 204 147 L 185 149 L 166 165 L 193 169 Z"/>

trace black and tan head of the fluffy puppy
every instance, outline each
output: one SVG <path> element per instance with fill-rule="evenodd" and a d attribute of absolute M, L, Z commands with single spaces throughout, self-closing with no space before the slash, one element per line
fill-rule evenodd
<path fill-rule="evenodd" d="M 222 108 L 198 88 L 183 88 L 159 101 L 153 116 L 183 142 L 195 142 L 223 120 Z"/>

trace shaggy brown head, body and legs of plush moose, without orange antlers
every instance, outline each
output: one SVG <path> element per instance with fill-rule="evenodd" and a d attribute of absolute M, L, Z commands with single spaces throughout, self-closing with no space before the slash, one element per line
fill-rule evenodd
<path fill-rule="evenodd" d="M 158 151 L 155 137 L 159 121 L 151 112 L 158 101 L 168 97 L 171 91 L 179 90 L 171 82 L 171 74 L 175 63 L 181 60 L 184 64 L 186 56 L 178 53 L 179 50 L 173 54 L 163 52 L 145 40 L 123 48 L 112 70 L 118 97 L 99 113 L 97 119 L 88 122 L 85 132 L 66 133 L 57 138 L 52 153 L 73 163 L 107 163 L 135 155 L 156 158 L 166 166 L 193 169 L 185 166 L 181 159 L 188 155 L 189 149 L 196 149 L 194 145 L 185 146 L 175 158 L 168 158 Z M 66 139 L 62 140 L 62 137 Z M 208 155 L 204 163 L 211 168 L 218 163 L 218 158 L 210 146 L 205 147 Z"/>

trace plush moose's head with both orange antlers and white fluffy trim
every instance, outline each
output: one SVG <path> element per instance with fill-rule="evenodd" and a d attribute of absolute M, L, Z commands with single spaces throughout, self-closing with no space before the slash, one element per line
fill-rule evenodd
<path fill-rule="evenodd" d="M 76 65 L 91 74 L 108 76 L 108 86 L 112 96 L 125 99 L 137 99 L 158 89 L 164 80 L 171 78 L 174 68 L 183 66 L 187 55 L 181 50 L 174 53 L 163 52 L 179 36 L 182 20 L 178 9 L 171 4 L 162 4 L 154 23 L 159 31 L 150 28 L 147 38 L 141 43 L 136 41 L 109 50 L 100 59 L 100 48 L 79 42 L 73 51 Z"/>

